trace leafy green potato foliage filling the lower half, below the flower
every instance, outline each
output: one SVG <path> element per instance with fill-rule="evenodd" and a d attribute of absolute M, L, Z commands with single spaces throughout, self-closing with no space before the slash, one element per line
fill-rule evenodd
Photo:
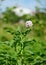
<path fill-rule="evenodd" d="M 11 33 L 11 41 L 0 42 L 0 65 L 46 65 L 46 42 L 29 39 L 30 28 Z"/>

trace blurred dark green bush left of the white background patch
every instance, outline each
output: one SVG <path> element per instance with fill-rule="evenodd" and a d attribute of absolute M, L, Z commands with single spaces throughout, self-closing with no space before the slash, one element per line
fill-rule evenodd
<path fill-rule="evenodd" d="M 18 22 L 20 20 L 20 17 L 17 16 L 12 9 L 7 8 L 7 10 L 3 13 L 3 21 L 4 22 L 11 22 L 11 23 L 15 23 Z"/>

